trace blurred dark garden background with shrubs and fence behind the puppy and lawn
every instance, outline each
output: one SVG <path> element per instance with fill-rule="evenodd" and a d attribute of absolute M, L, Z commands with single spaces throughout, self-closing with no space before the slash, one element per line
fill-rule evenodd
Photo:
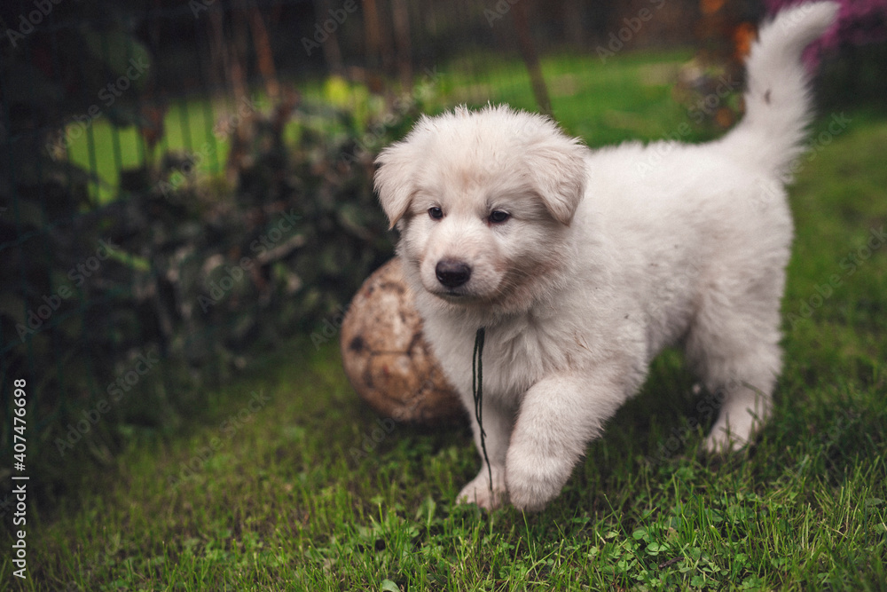
<path fill-rule="evenodd" d="M 271 352 L 334 351 L 325 322 L 396 239 L 373 157 L 419 114 L 507 102 L 589 146 L 716 138 L 781 4 L 4 2 L 4 526 L 13 380 L 27 380 L 29 503 L 51 514 L 83 474 L 211 414 Z M 885 38 L 887 3 L 847 0 L 808 52 L 823 125 L 883 125 Z"/>

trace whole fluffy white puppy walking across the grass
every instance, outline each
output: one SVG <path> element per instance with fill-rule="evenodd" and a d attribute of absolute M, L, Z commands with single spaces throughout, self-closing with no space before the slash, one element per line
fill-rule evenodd
<path fill-rule="evenodd" d="M 800 55 L 836 12 L 804 4 L 761 29 L 745 117 L 716 142 L 591 151 L 546 117 L 487 107 L 423 117 L 382 151 L 381 205 L 468 409 L 486 328 L 492 484 L 482 459 L 459 501 L 545 507 L 650 361 L 681 340 L 723 399 L 706 446 L 753 437 L 781 370 L 792 239 L 782 185 L 811 118 Z"/>

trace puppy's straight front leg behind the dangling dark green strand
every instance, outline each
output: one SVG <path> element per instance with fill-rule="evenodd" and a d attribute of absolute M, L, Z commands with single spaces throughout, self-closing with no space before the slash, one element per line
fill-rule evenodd
<path fill-rule="evenodd" d="M 470 399 L 469 399 L 470 400 Z M 474 405 L 474 402 L 471 403 Z M 473 407 L 471 407 L 473 409 Z M 483 460 L 481 449 L 481 430 L 477 425 L 474 411 L 471 415 L 471 430 L 475 434 L 475 446 L 481 455 L 481 471 L 468 485 L 459 492 L 456 501 L 459 503 L 476 503 L 484 509 L 494 509 L 508 501 L 505 484 L 505 458 L 508 452 L 508 439 L 514 422 L 514 409 L 503 407 L 496 399 L 483 399 L 483 430 L 486 433 L 484 443 L 487 456 L 490 457 L 490 470 Z M 490 474 L 493 485 L 490 488 Z"/>

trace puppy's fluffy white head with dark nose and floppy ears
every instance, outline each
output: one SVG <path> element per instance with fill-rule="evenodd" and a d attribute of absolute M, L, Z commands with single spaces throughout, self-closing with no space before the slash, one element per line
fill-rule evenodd
<path fill-rule="evenodd" d="M 406 272 L 444 303 L 514 310 L 561 268 L 585 146 L 546 117 L 460 107 L 423 117 L 376 162 Z"/>

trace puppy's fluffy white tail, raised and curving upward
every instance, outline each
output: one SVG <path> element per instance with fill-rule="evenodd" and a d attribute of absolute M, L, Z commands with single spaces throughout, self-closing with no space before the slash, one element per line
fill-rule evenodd
<path fill-rule="evenodd" d="M 804 152 L 812 119 L 810 75 L 801 54 L 835 22 L 838 8 L 835 2 L 798 4 L 760 29 L 746 62 L 745 116 L 721 140 L 731 155 L 788 176 Z"/>

